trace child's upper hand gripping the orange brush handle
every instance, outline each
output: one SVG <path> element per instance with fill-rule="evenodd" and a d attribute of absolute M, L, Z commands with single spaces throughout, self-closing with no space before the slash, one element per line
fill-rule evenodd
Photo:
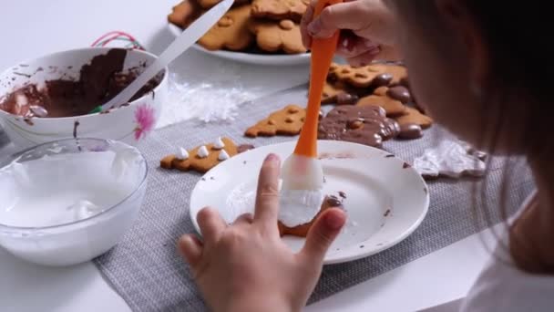
<path fill-rule="evenodd" d="M 313 38 L 333 36 L 341 30 L 337 55 L 353 66 L 364 66 L 376 58 L 395 60 L 395 20 L 380 0 L 354 0 L 326 7 L 313 18 L 317 0 L 308 6 L 301 22 L 303 44 L 312 46 Z"/>

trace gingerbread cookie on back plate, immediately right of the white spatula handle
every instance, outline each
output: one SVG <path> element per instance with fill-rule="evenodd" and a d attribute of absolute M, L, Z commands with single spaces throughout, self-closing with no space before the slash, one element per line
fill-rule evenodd
<path fill-rule="evenodd" d="M 218 23 L 200 38 L 200 46 L 208 50 L 222 48 L 239 51 L 250 47 L 254 36 L 248 29 L 251 5 L 242 5 L 229 10 Z"/>

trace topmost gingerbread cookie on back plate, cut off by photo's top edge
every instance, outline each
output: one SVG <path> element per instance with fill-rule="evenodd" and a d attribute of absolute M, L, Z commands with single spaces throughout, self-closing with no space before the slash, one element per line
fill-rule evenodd
<path fill-rule="evenodd" d="M 309 0 L 253 0 L 251 15 L 276 21 L 291 19 L 299 23 Z"/>

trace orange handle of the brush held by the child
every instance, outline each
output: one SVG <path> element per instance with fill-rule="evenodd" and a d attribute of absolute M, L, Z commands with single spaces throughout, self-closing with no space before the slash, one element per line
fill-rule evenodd
<path fill-rule="evenodd" d="M 342 3 L 342 0 L 319 0 L 314 7 L 313 17 L 319 16 L 329 5 Z M 310 68 L 310 90 L 308 92 L 308 107 L 300 137 L 294 153 L 306 157 L 317 157 L 317 125 L 321 108 L 322 93 L 327 73 L 333 61 L 334 51 L 339 41 L 339 31 L 324 39 L 313 38 L 312 58 Z"/>

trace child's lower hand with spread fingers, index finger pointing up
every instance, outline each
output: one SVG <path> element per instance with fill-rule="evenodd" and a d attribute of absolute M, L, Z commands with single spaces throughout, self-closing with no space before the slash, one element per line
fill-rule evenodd
<path fill-rule="evenodd" d="M 313 224 L 303 250 L 294 254 L 277 229 L 279 173 L 275 155 L 263 162 L 254 216 L 227 225 L 214 210 L 198 214 L 204 238 L 183 235 L 179 250 L 214 311 L 300 311 L 322 271 L 323 256 L 344 225 L 340 209 Z"/>

